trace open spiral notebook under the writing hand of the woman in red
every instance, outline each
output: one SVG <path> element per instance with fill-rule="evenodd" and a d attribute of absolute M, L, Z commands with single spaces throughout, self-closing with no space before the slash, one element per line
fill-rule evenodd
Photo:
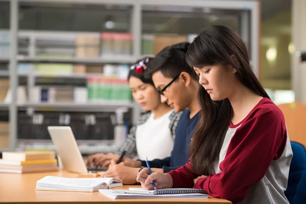
<path fill-rule="evenodd" d="M 158 190 L 144 190 L 142 188 L 130 188 L 129 190 L 99 190 L 100 193 L 112 199 L 128 198 L 208 198 L 205 190 L 190 188 L 166 188 Z"/>

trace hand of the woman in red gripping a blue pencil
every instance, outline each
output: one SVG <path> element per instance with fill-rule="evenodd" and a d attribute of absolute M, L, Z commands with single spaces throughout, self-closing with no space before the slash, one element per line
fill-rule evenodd
<path fill-rule="evenodd" d="M 173 186 L 173 180 L 170 174 L 153 171 L 152 174 L 149 175 L 148 168 L 144 168 L 139 172 L 136 181 L 140 182 L 141 187 L 145 190 L 154 189 L 152 185 L 153 181 L 155 181 L 157 189 L 172 188 Z"/>

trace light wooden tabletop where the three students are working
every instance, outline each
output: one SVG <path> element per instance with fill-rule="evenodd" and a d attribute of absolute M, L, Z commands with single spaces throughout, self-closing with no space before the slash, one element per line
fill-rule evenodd
<path fill-rule="evenodd" d="M 41 172 L 41 173 L 0 173 L 0 202 L 11 203 L 84 203 L 84 202 L 121 202 L 121 203 L 133 203 L 133 202 L 147 202 L 147 203 L 231 203 L 230 201 L 218 198 L 202 198 L 202 199 L 190 199 L 190 198 L 163 198 L 163 199 L 116 199 L 113 200 L 104 196 L 99 192 L 87 193 L 87 192 L 61 192 L 61 191 L 36 191 L 36 181 L 42 179 L 46 175 L 62 176 L 62 177 L 77 177 L 78 174 L 70 173 L 66 171 L 58 172 Z M 130 187 L 139 186 L 121 186 L 114 189 L 129 189 Z"/>

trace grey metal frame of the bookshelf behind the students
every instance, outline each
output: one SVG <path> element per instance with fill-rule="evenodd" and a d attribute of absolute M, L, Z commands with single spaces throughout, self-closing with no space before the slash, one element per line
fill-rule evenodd
<path fill-rule="evenodd" d="M 0 0 L 3 1 L 3 0 Z M 18 86 L 18 76 L 27 77 L 28 88 L 34 86 L 35 77 L 58 77 L 58 78 L 88 78 L 93 77 L 95 74 L 55 74 L 50 76 L 50 74 L 35 73 L 33 69 L 30 73 L 18 73 L 17 64 L 18 63 L 66 63 L 66 64 L 86 64 L 86 65 L 101 65 L 101 64 L 131 64 L 137 59 L 142 57 L 141 55 L 141 40 L 142 40 L 142 9 L 145 6 L 156 6 L 158 8 L 169 8 L 174 7 L 194 7 L 194 8 L 208 8 L 208 9 L 223 9 L 223 10 L 239 10 L 241 11 L 240 19 L 240 34 L 245 41 L 249 44 L 249 53 L 252 60 L 254 69 L 258 73 L 259 70 L 259 3 L 256 1 L 215 1 L 215 0 L 202 0 L 202 1 L 184 1 L 184 0 L 7 0 L 10 2 L 10 56 L 0 57 L 0 63 L 9 63 L 9 71 L 1 71 L 0 77 L 10 77 L 10 89 L 12 93 L 12 103 L 10 104 L 0 104 L 0 108 L 9 109 L 10 118 L 10 148 L 0 149 L 2 150 L 14 150 L 17 147 L 17 111 L 18 110 L 52 110 L 52 111 L 108 111 L 114 110 L 118 107 L 127 107 L 133 109 L 133 122 L 137 121 L 140 115 L 140 108 L 134 103 L 101 103 L 101 104 L 45 104 L 45 103 L 17 103 L 17 86 Z M 18 36 L 29 39 L 29 46 L 31 44 L 31 35 L 35 33 L 43 33 L 43 31 L 22 31 L 19 30 L 19 6 L 20 3 L 57 3 L 57 4 L 67 4 L 74 6 L 79 4 L 88 5 L 119 5 L 119 6 L 130 6 L 133 9 L 131 12 L 131 28 L 130 33 L 133 34 L 133 56 L 110 56 L 107 58 L 58 58 L 58 57 L 34 57 L 35 50 L 30 48 L 28 50 L 28 57 L 20 57 L 17 53 L 18 48 Z M 89 22 L 90 23 L 90 22 Z M 249 28 L 249 29 L 248 29 Z M 18 31 L 19 30 L 19 31 Z M 48 32 L 45 32 L 48 34 Z M 64 32 L 61 32 L 64 33 Z M 68 32 L 67 32 L 68 33 Z M 60 35 L 60 34 L 58 34 Z M 65 38 L 69 38 L 67 34 Z M 28 36 L 30 36 L 28 38 Z M 68 36 L 68 37 L 67 37 Z M 32 39 L 33 41 L 33 39 Z M 34 45 L 35 46 L 35 45 Z M 23 48 L 22 48 L 23 49 Z M 51 74 L 52 75 L 52 74 Z"/>

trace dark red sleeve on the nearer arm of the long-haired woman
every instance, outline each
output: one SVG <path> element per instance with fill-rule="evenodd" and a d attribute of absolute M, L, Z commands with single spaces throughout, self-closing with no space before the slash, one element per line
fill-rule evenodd
<path fill-rule="evenodd" d="M 198 179 L 194 188 L 234 203 L 243 200 L 250 186 L 260 181 L 271 162 L 283 154 L 287 131 L 282 118 L 282 114 L 267 111 L 243 123 L 220 163 L 222 172 Z"/>

